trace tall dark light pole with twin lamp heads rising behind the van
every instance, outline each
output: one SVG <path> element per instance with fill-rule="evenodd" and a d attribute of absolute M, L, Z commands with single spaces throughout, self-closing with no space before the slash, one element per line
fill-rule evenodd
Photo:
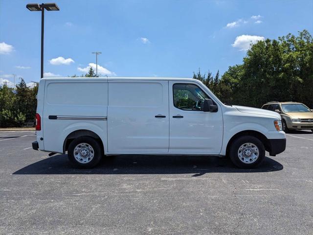
<path fill-rule="evenodd" d="M 47 11 L 59 11 L 60 8 L 56 3 L 29 3 L 26 8 L 30 11 L 41 11 L 41 74 L 44 77 L 44 29 L 45 29 L 45 9 Z"/>

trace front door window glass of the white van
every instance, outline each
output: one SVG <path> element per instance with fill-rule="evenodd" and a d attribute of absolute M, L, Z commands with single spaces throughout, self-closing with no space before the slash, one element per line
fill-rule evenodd
<path fill-rule="evenodd" d="M 174 106 L 178 109 L 201 111 L 201 104 L 208 98 L 197 85 L 187 83 L 173 85 Z"/>

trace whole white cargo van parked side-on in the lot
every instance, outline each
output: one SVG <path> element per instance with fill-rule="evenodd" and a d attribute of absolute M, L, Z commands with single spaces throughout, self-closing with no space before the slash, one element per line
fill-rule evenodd
<path fill-rule="evenodd" d="M 280 115 L 223 104 L 186 78 L 44 78 L 35 150 L 66 153 L 79 167 L 104 155 L 229 156 L 256 167 L 285 150 Z"/>

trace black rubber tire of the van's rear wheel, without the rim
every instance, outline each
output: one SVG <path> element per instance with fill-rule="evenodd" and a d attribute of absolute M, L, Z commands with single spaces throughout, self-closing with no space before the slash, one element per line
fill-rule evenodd
<path fill-rule="evenodd" d="M 78 160 L 76 160 L 74 156 L 74 149 L 80 143 L 87 143 L 93 149 L 93 152 L 92 152 L 93 158 L 88 163 L 79 162 Z M 71 141 L 71 143 L 68 146 L 67 155 L 68 155 L 68 159 L 70 160 L 70 162 L 74 164 L 76 167 L 88 169 L 88 168 L 92 168 L 96 166 L 99 163 L 102 157 L 102 151 L 101 151 L 101 146 L 98 141 L 88 136 L 82 136 Z"/>

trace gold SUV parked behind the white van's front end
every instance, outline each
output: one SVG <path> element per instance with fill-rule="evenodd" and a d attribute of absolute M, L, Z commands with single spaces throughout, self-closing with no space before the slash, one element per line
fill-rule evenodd
<path fill-rule="evenodd" d="M 313 132 L 313 110 L 297 102 L 268 102 L 262 106 L 280 114 L 282 117 L 283 131 L 311 130 Z"/>

